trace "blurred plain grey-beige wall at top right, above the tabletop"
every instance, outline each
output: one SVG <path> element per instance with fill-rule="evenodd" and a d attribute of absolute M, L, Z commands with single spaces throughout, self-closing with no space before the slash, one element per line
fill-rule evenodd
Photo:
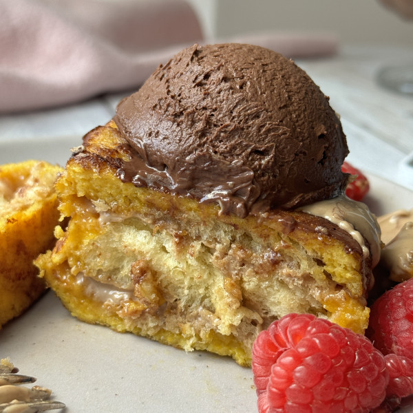
<path fill-rule="evenodd" d="M 413 45 L 413 24 L 389 12 L 379 0 L 189 2 L 207 39 L 255 30 L 315 30 L 330 31 L 343 43 Z"/>

